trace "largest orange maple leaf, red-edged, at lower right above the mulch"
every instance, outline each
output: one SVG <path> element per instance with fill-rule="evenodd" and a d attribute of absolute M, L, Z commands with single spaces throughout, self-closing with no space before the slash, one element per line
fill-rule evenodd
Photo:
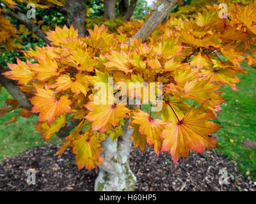
<path fill-rule="evenodd" d="M 177 163 L 180 155 L 188 157 L 190 150 L 204 152 L 204 148 L 215 148 L 216 142 L 211 133 L 221 127 L 209 121 L 214 117 L 213 113 L 203 113 L 203 108 L 194 110 L 191 106 L 179 122 L 166 124 L 161 137 L 164 138 L 162 152 L 168 151 L 172 155 L 173 163 Z"/>

